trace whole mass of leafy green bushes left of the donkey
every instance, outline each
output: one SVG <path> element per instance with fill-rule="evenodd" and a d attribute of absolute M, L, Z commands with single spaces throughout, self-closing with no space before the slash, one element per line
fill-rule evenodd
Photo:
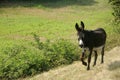
<path fill-rule="evenodd" d="M 14 45 L 3 50 L 0 79 L 26 77 L 79 60 L 78 46 L 68 40 L 41 42 L 37 35 L 34 35 L 34 39 L 32 46 Z"/>

